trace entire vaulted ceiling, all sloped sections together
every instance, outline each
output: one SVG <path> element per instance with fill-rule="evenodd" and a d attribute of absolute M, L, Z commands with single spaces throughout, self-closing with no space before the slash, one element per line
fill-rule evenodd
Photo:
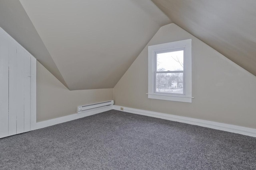
<path fill-rule="evenodd" d="M 70 90 L 113 88 L 172 22 L 256 75 L 255 0 L 152 1 L 0 0 L 0 27 Z"/>

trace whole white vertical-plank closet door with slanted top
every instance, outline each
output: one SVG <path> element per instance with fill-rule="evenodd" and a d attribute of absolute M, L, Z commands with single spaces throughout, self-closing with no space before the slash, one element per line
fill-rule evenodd
<path fill-rule="evenodd" d="M 30 131 L 32 58 L 36 61 L 0 28 L 0 138 Z M 33 71 L 34 89 L 36 70 Z M 34 105 L 36 103 L 32 102 L 32 108 Z M 36 110 L 32 113 L 36 114 Z"/>

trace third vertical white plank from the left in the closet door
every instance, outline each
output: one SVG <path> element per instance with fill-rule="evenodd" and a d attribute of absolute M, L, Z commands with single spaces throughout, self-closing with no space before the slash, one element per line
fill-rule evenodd
<path fill-rule="evenodd" d="M 17 48 L 17 134 L 24 132 L 24 55 L 25 51 Z"/>

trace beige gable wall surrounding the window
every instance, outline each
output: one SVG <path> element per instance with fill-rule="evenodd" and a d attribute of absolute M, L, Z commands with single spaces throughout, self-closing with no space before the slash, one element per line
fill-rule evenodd
<path fill-rule="evenodd" d="M 148 45 L 184 39 L 192 39 L 192 103 L 148 99 Z M 253 74 L 174 23 L 148 45 L 114 87 L 115 105 L 256 128 Z"/>

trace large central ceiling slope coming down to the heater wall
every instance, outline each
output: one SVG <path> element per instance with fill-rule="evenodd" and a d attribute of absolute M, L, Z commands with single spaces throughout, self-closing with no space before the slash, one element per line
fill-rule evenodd
<path fill-rule="evenodd" d="M 171 23 L 150 0 L 20 2 L 70 90 L 113 88 Z"/>

